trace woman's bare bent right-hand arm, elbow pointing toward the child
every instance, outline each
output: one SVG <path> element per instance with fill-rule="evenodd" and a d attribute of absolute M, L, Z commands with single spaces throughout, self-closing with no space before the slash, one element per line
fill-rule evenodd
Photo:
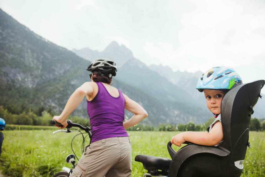
<path fill-rule="evenodd" d="M 141 122 L 145 117 L 148 116 L 148 114 L 145 109 L 140 106 L 140 104 L 136 103 L 125 94 L 123 94 L 123 96 L 125 98 L 125 109 L 134 113 L 134 115 L 129 120 L 123 122 L 123 127 L 128 128 Z"/>

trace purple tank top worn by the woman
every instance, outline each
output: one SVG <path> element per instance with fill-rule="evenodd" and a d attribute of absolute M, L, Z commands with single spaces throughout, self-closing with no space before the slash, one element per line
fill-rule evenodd
<path fill-rule="evenodd" d="M 87 101 L 87 114 L 92 127 L 91 142 L 111 137 L 128 137 L 123 127 L 125 98 L 120 90 L 118 97 L 109 94 L 101 82 L 96 82 L 98 92 Z"/>

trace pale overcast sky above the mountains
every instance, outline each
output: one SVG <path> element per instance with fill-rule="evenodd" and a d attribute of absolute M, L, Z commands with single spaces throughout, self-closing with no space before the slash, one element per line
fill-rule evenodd
<path fill-rule="evenodd" d="M 225 65 L 244 83 L 265 79 L 264 0 L 0 0 L 0 7 L 69 50 L 102 51 L 117 41 L 147 65 L 188 72 Z"/>

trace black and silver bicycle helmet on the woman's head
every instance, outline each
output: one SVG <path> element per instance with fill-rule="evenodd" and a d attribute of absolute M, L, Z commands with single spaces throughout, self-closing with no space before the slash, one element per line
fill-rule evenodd
<path fill-rule="evenodd" d="M 116 76 L 117 67 L 114 61 L 107 60 L 105 58 L 98 58 L 87 68 L 87 71 L 93 72 L 95 70 L 100 73 L 104 73 L 105 75 L 112 74 L 112 76 Z"/>

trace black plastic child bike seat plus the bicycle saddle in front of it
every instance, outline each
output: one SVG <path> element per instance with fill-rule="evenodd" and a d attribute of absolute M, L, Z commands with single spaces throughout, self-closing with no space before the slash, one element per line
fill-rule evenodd
<path fill-rule="evenodd" d="M 223 128 L 223 143 L 219 146 L 203 146 L 188 144 L 175 152 L 168 143 L 168 151 L 172 158 L 169 168 L 168 164 L 163 165 L 163 158 L 156 158 L 159 165 L 167 166 L 168 173 L 164 170 L 163 175 L 168 177 L 239 177 L 243 170 L 243 163 L 247 147 L 249 147 L 249 122 L 251 114 L 254 113 L 253 107 L 256 105 L 260 91 L 265 81 L 259 80 L 251 83 L 245 83 L 231 89 L 226 93 L 221 102 L 221 119 Z M 145 155 L 140 155 L 145 157 Z M 137 156 L 136 156 L 137 157 Z M 139 157 L 140 159 L 140 157 Z M 135 158 L 136 160 L 136 158 Z M 138 161 L 138 158 L 137 160 Z M 158 161 L 155 163 L 142 162 L 148 174 L 151 174 L 151 168 L 158 167 Z M 145 165 L 148 164 L 148 167 Z M 155 170 L 158 171 L 158 168 Z M 158 171 L 159 172 L 159 171 Z"/>

